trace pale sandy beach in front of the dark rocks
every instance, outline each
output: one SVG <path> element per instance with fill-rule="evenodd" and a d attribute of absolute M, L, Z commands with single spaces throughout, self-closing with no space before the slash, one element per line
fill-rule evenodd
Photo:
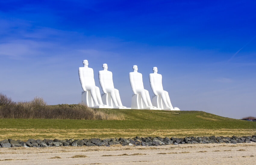
<path fill-rule="evenodd" d="M 0 164 L 255 164 L 256 143 L 0 148 Z"/>

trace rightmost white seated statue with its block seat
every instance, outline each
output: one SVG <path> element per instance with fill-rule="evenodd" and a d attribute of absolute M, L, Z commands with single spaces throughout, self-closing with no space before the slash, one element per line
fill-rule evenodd
<path fill-rule="evenodd" d="M 180 110 L 172 106 L 167 91 L 164 91 L 162 84 L 162 75 L 158 74 L 157 67 L 153 67 L 153 72 L 149 74 L 149 82 L 155 96 L 152 96 L 152 104 L 162 110 Z"/>

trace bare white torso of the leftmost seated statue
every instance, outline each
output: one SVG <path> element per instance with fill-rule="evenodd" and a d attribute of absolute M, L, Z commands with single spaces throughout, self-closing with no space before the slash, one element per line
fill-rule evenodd
<path fill-rule="evenodd" d="M 83 79 L 85 86 L 95 86 L 92 68 L 79 67 L 79 72 L 82 73 L 80 76 L 82 76 L 81 79 Z"/>

